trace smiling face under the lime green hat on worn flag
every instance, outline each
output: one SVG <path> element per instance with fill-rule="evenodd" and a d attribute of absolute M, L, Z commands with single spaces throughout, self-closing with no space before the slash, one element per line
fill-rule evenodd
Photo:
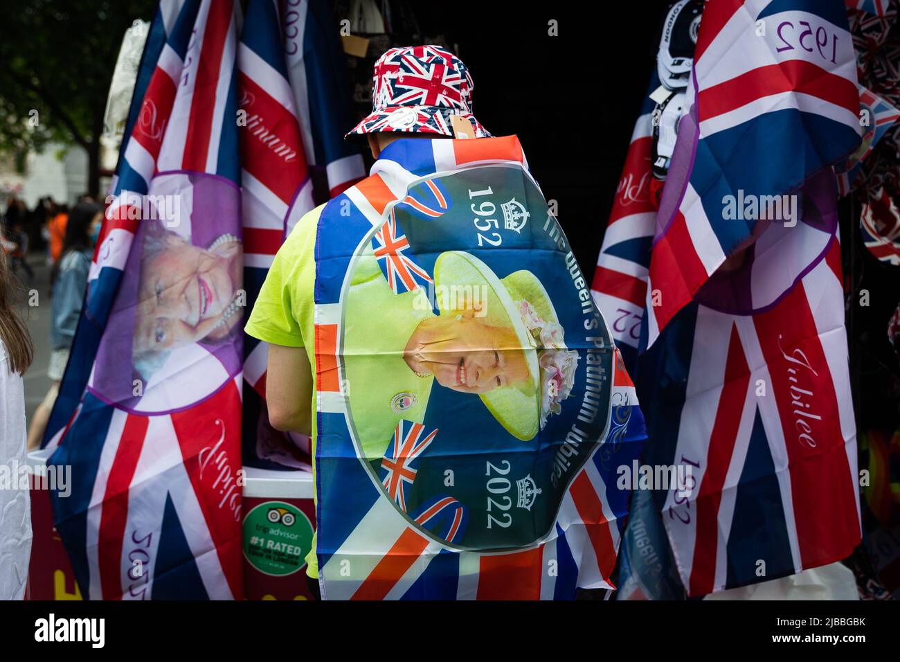
<path fill-rule="evenodd" d="M 403 358 L 413 371 L 432 374 L 438 384 L 461 393 L 487 393 L 529 376 L 515 332 L 491 326 L 471 310 L 419 323 Z"/>

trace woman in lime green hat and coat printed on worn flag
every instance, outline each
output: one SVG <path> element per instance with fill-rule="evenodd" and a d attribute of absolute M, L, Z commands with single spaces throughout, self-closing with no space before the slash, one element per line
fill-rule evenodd
<path fill-rule="evenodd" d="M 441 253 L 434 271 L 439 315 L 424 289 L 394 294 L 371 249 L 356 263 L 342 354 L 352 425 L 369 459 L 383 457 L 401 419 L 423 422 L 435 381 L 478 395 L 519 440 L 534 439 L 572 392 L 578 352 L 566 348 L 533 273 L 501 279 L 457 250 Z"/>

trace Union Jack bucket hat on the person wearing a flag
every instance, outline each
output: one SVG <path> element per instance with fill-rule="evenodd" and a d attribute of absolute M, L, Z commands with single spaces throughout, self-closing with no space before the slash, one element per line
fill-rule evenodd
<path fill-rule="evenodd" d="M 472 114 L 473 88 L 463 60 L 440 46 L 388 50 L 375 62 L 372 113 L 345 138 L 381 131 L 453 137 L 452 115 L 472 122 L 476 138 L 491 138 Z"/>

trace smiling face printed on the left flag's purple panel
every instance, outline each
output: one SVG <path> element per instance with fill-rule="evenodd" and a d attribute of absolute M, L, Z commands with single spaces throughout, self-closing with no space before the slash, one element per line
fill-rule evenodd
<path fill-rule="evenodd" d="M 227 333 L 221 314 L 238 290 L 237 241 L 215 251 L 193 246 L 173 232 L 145 243 L 140 264 L 133 352 L 175 349 L 214 331 Z M 239 265 L 238 265 L 239 266 Z"/>

